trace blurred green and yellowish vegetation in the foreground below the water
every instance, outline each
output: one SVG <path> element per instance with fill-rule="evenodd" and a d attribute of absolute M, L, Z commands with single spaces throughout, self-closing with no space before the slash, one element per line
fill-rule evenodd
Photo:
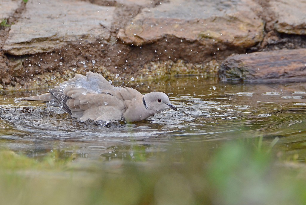
<path fill-rule="evenodd" d="M 262 138 L 174 143 L 167 151 L 102 155 L 0 151 L 0 204 L 306 204 L 304 163 L 278 157 Z"/>

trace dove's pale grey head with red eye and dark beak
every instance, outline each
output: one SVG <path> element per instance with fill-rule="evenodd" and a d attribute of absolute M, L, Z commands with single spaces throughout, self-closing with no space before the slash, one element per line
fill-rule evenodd
<path fill-rule="evenodd" d="M 166 93 L 163 92 L 150 92 L 144 95 L 144 104 L 147 109 L 154 113 L 160 113 L 161 111 L 169 108 L 176 110 L 176 107 L 171 104 Z"/>

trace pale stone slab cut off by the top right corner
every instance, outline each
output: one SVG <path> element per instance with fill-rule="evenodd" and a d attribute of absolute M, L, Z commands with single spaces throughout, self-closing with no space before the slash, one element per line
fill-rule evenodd
<path fill-rule="evenodd" d="M 306 1 L 273 0 L 269 3 L 276 15 L 274 27 L 278 32 L 306 35 Z"/>

